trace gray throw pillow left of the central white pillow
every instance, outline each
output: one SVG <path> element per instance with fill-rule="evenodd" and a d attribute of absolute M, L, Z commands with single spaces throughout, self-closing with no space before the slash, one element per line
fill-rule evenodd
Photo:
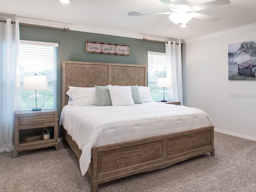
<path fill-rule="evenodd" d="M 96 90 L 97 106 L 112 106 L 108 86 L 95 85 L 94 87 Z"/>

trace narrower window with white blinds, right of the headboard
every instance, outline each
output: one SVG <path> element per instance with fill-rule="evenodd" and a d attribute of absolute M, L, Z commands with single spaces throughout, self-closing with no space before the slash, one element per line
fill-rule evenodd
<path fill-rule="evenodd" d="M 166 77 L 165 53 L 148 51 L 148 86 L 154 101 L 159 101 L 163 98 L 163 88 L 156 87 L 156 80 L 158 77 L 164 76 Z M 164 97 L 167 98 L 167 95 Z"/>

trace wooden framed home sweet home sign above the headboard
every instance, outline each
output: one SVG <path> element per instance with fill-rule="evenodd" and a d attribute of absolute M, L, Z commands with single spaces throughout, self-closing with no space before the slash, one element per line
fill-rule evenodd
<path fill-rule="evenodd" d="M 110 54 L 110 55 L 130 55 L 129 45 L 86 41 L 86 53 Z"/>

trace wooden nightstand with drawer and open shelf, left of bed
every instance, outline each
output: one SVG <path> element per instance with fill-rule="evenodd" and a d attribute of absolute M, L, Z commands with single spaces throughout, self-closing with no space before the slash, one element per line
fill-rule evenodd
<path fill-rule="evenodd" d="M 40 138 L 44 127 L 52 127 L 50 140 Z M 24 141 L 24 138 L 29 136 L 38 136 L 39 139 L 34 137 L 32 141 Z M 15 111 L 14 158 L 19 151 L 50 146 L 55 146 L 55 149 L 59 150 L 57 111 L 55 109 Z"/>

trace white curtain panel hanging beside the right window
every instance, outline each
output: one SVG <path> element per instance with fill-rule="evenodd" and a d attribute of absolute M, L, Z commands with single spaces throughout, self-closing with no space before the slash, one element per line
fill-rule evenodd
<path fill-rule="evenodd" d="M 172 87 L 168 88 L 168 100 L 180 101 L 182 104 L 182 60 L 181 46 L 168 41 L 165 44 L 166 76 L 172 78 Z"/>

